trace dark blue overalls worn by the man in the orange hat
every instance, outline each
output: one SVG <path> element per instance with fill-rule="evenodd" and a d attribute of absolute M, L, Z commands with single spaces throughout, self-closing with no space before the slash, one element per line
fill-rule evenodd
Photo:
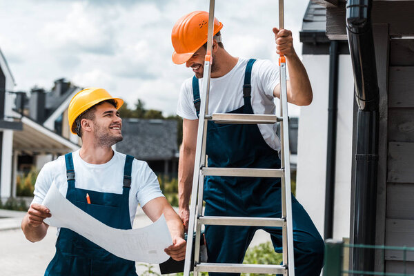
<path fill-rule="evenodd" d="M 253 114 L 248 61 L 244 77 L 244 106 L 228 113 Z M 199 102 L 198 80 L 193 79 L 194 103 Z M 197 112 L 198 116 L 198 112 Z M 264 141 L 257 125 L 215 124 L 208 121 L 206 154 L 209 167 L 280 168 L 278 152 Z M 235 217 L 282 217 L 279 178 L 206 177 L 205 215 Z M 292 195 L 295 275 L 319 276 L 324 242 L 306 210 Z M 261 227 L 206 226 L 208 262 L 242 263 L 253 235 Z M 282 252 L 282 228 L 263 227 L 270 233 L 275 251 Z M 210 275 L 234 275 L 210 273 Z"/>

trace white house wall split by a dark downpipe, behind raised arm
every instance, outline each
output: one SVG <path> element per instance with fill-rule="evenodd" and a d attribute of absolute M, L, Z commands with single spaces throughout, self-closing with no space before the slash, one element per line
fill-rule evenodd
<path fill-rule="evenodd" d="M 299 119 L 296 197 L 324 233 L 328 136 L 328 55 L 304 55 L 313 102 Z M 353 75 L 349 55 L 339 55 L 337 155 L 333 237 L 349 237 L 353 124 Z"/>

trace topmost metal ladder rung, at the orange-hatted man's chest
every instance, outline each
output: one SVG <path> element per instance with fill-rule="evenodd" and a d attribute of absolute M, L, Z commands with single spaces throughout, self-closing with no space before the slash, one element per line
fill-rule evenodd
<path fill-rule="evenodd" d="M 206 117 L 221 124 L 275 124 L 282 121 L 282 118 L 276 115 L 261 114 L 235 114 L 235 113 L 215 113 L 211 117 Z"/>

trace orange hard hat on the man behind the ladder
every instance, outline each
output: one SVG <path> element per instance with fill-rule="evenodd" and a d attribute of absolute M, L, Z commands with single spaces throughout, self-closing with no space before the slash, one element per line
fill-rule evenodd
<path fill-rule="evenodd" d="M 223 24 L 214 19 L 214 34 L 223 28 Z M 171 32 L 172 61 L 175 64 L 182 64 L 207 42 L 208 12 L 190 12 L 178 19 Z"/>

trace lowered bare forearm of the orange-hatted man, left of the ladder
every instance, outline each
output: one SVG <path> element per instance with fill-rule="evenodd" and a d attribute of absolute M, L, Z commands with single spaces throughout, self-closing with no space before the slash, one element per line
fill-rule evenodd
<path fill-rule="evenodd" d="M 188 208 L 193 187 L 195 152 L 181 146 L 178 163 L 178 198 L 179 208 Z"/>

